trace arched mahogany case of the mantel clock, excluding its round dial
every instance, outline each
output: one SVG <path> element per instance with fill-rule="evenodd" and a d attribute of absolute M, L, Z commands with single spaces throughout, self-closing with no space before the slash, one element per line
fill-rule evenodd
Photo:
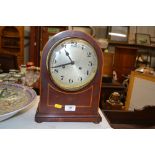
<path fill-rule="evenodd" d="M 98 59 L 98 68 L 94 79 L 87 86 L 77 91 L 66 91 L 56 86 L 50 77 L 46 64 L 50 49 L 60 40 L 66 38 L 80 38 L 87 41 L 94 47 Z M 102 51 L 91 36 L 80 31 L 64 31 L 51 38 L 42 53 L 40 103 L 35 121 L 99 123 L 101 121 L 98 108 L 102 83 L 102 65 Z M 75 111 L 65 111 L 66 105 L 74 105 Z"/>

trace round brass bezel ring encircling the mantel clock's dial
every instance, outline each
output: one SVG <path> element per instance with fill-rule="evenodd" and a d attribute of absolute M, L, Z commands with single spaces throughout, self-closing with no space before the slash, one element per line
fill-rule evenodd
<path fill-rule="evenodd" d="M 51 38 L 52 39 L 52 38 Z M 79 40 L 79 41 L 81 41 L 81 42 L 86 42 L 86 44 L 87 44 L 87 46 L 89 46 L 89 47 L 91 47 L 91 49 L 93 49 L 93 53 L 94 53 L 94 55 L 95 55 L 95 58 L 96 58 L 96 69 L 95 69 L 95 73 L 93 74 L 91 74 L 90 76 L 89 76 L 89 78 L 87 78 L 87 80 L 86 80 L 86 82 L 84 82 L 84 84 L 83 85 L 80 85 L 79 86 L 79 84 L 77 84 L 77 85 L 73 85 L 73 86 L 69 86 L 69 85 L 65 85 L 65 84 L 61 84 L 61 85 L 59 85 L 59 80 L 56 80 L 55 78 L 53 78 L 53 76 L 52 76 L 52 73 L 51 73 L 51 71 L 50 71 L 50 64 L 49 64 L 49 62 L 50 62 L 50 58 L 51 58 L 51 55 L 52 55 L 52 53 L 53 53 L 53 51 L 54 51 L 54 49 L 57 47 L 57 46 L 59 46 L 59 44 L 61 44 L 62 42 L 64 42 L 64 41 L 67 41 L 67 40 Z M 51 46 L 51 48 L 50 48 L 50 50 L 49 50 L 49 52 L 48 52 L 48 55 L 47 55 L 47 59 L 46 59 L 46 67 L 47 67 L 47 71 L 48 71 L 48 73 L 49 73 L 49 76 L 50 76 L 50 79 L 54 82 L 54 84 L 58 87 L 58 88 L 60 88 L 60 89 L 62 89 L 62 90 L 65 90 L 65 91 L 79 91 L 79 90 L 81 90 L 81 89 L 83 89 L 84 87 L 86 87 L 87 85 L 89 85 L 92 81 L 93 81 L 93 79 L 95 78 L 95 76 L 96 76 L 96 73 L 97 73 L 97 70 L 98 70 L 98 56 L 97 56 L 97 52 L 96 52 L 96 49 L 93 47 L 93 45 L 92 45 L 92 43 L 91 42 L 89 42 L 89 41 L 87 41 L 86 39 L 84 39 L 84 38 L 82 38 L 82 37 L 64 37 L 64 38 L 62 38 L 62 39 L 60 39 L 60 40 L 58 40 L 57 42 L 55 42 L 52 46 Z"/>

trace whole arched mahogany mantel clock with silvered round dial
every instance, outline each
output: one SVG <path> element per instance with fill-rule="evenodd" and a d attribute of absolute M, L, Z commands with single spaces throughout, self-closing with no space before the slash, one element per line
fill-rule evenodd
<path fill-rule="evenodd" d="M 102 82 L 102 52 L 80 31 L 64 31 L 45 45 L 36 122 L 94 122 Z"/>

